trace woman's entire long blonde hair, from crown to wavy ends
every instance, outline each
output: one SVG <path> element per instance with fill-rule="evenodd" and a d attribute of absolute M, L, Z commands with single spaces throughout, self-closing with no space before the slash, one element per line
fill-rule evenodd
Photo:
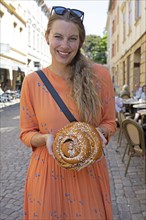
<path fill-rule="evenodd" d="M 96 124 L 101 114 L 101 101 L 96 86 L 97 76 L 93 71 L 92 63 L 81 53 L 81 47 L 85 41 L 84 25 L 78 17 L 72 16 L 68 11 L 64 15 L 54 13 L 48 21 L 47 35 L 56 20 L 73 22 L 78 26 L 80 46 L 76 56 L 69 64 L 69 83 L 72 88 L 72 98 L 78 107 L 80 120 Z"/>

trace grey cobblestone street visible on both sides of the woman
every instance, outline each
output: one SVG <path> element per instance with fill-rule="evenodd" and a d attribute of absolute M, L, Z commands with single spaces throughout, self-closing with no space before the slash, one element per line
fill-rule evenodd
<path fill-rule="evenodd" d="M 21 220 L 24 184 L 31 149 L 26 148 L 19 140 L 19 103 L 1 108 L 0 113 L 0 219 Z M 112 137 L 106 153 L 111 179 L 114 220 L 146 220 L 144 158 L 132 158 L 127 176 L 124 177 L 125 164 L 121 162 L 121 158 L 126 142 L 122 140 L 122 146 L 117 152 L 117 137 L 118 131 Z M 127 162 L 126 157 L 125 162 Z"/>

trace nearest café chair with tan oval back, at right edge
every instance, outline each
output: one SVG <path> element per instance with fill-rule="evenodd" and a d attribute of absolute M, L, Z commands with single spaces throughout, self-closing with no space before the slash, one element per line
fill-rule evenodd
<path fill-rule="evenodd" d="M 125 176 L 128 172 L 129 164 L 132 157 L 140 156 L 144 157 L 145 163 L 145 152 L 146 152 L 146 143 L 144 140 L 144 131 L 142 126 L 133 119 L 125 119 L 122 122 L 123 132 L 127 139 L 127 146 L 125 148 L 122 161 L 124 161 L 125 154 L 128 149 L 128 162 L 125 169 Z M 146 164 L 144 164 L 144 175 L 145 175 L 145 183 L 146 183 Z"/>

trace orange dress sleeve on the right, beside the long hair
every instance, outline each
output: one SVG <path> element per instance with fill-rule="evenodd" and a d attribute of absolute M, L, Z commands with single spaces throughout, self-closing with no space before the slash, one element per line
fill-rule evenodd
<path fill-rule="evenodd" d="M 102 65 L 98 67 L 98 74 L 101 81 L 101 120 L 99 126 L 108 130 L 109 137 L 116 131 L 115 92 L 108 68 Z"/>

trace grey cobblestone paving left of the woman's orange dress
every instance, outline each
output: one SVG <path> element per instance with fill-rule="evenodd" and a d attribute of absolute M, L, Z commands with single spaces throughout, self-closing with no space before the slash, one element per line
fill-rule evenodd
<path fill-rule="evenodd" d="M 19 104 L 1 109 L 1 220 L 22 219 L 30 152 L 19 140 Z"/>

